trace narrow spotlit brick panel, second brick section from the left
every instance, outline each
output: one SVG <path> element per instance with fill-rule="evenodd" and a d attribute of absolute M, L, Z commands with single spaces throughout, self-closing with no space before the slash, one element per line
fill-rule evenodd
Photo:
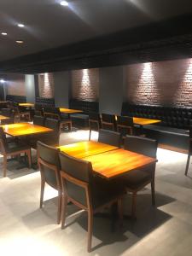
<path fill-rule="evenodd" d="M 39 96 L 44 98 L 54 97 L 54 77 L 53 73 L 44 73 L 38 75 Z"/>

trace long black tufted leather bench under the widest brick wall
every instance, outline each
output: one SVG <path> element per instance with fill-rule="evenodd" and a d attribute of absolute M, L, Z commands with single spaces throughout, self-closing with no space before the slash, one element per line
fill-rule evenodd
<path fill-rule="evenodd" d="M 189 148 L 189 125 L 192 125 L 192 108 L 135 105 L 124 102 L 122 115 L 148 119 L 160 119 L 158 125 L 145 125 L 143 131 L 147 137 L 158 143 L 175 148 Z"/>

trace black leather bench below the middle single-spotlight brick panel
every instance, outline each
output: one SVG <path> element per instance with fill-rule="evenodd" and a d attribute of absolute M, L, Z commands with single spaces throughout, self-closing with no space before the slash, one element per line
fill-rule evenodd
<path fill-rule="evenodd" d="M 89 113 L 99 113 L 99 102 L 86 102 L 71 99 L 69 108 L 82 110 L 82 113 L 71 114 L 71 119 L 74 127 L 88 128 L 89 127 Z"/>

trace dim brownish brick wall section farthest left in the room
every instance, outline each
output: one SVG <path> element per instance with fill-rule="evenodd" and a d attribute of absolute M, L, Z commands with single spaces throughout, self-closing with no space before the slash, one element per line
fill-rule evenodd
<path fill-rule="evenodd" d="M 6 77 L 7 94 L 26 96 L 25 76 L 22 74 L 9 74 Z"/>

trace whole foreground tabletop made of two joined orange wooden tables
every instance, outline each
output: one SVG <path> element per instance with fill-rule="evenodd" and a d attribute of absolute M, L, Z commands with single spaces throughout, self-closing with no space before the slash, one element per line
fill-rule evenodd
<path fill-rule="evenodd" d="M 93 172 L 107 179 L 125 175 L 143 166 L 154 165 L 157 160 L 123 148 L 104 143 L 81 142 L 58 147 L 73 157 L 90 161 Z"/>

